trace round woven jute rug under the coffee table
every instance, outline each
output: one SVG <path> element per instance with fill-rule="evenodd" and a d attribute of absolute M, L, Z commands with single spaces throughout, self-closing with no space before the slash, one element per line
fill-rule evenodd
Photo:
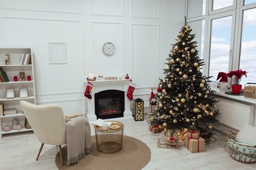
<path fill-rule="evenodd" d="M 62 148 L 64 165 L 60 163 L 60 154 L 55 158 L 58 169 L 142 169 L 151 159 L 151 150 L 139 139 L 123 136 L 123 148 L 113 154 L 98 152 L 95 136 L 91 136 L 91 153 L 74 165 L 66 165 L 67 148 Z"/>

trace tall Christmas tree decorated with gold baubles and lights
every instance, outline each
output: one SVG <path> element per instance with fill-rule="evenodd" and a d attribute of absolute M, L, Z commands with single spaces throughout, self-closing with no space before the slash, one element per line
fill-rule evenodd
<path fill-rule="evenodd" d="M 188 25 L 182 26 L 175 44 L 172 44 L 165 78 L 160 79 L 161 95 L 158 95 L 158 109 L 152 114 L 151 125 L 163 126 L 171 136 L 181 135 L 184 129 L 200 131 L 203 137 L 213 136 L 213 125 L 219 111 L 215 110 L 217 100 L 209 87 L 210 76 L 203 76 L 203 60 L 196 50 L 197 42 L 190 34 Z"/>

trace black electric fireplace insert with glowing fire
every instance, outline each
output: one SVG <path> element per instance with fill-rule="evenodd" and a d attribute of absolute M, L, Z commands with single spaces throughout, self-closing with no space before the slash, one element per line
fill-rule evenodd
<path fill-rule="evenodd" d="M 125 92 L 104 90 L 95 93 L 95 114 L 97 119 L 120 118 L 125 110 Z"/>

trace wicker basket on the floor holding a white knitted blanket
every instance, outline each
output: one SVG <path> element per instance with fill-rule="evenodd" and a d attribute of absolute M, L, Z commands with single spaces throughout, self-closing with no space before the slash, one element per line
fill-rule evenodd
<path fill-rule="evenodd" d="M 236 161 L 243 163 L 256 162 L 256 146 L 249 146 L 246 144 L 238 143 L 236 139 L 237 133 L 228 133 L 226 139 L 228 141 L 228 150 L 230 157 Z"/>

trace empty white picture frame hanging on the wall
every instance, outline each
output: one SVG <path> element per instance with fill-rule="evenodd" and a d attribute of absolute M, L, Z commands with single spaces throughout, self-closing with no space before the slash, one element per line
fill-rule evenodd
<path fill-rule="evenodd" d="M 49 63 L 67 63 L 65 42 L 49 42 Z"/>

